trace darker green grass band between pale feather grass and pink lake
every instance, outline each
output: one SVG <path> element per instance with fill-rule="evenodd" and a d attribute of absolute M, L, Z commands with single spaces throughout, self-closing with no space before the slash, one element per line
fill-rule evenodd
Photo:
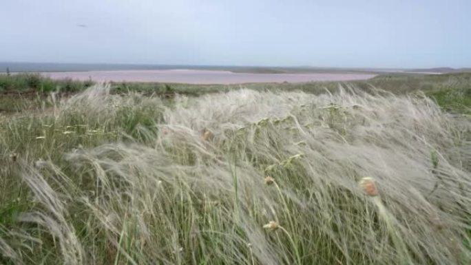
<path fill-rule="evenodd" d="M 240 69 L 242 70 L 242 69 Z M 242 70 L 243 71 L 243 70 Z M 34 73 L 0 74 L 0 114 L 17 112 L 18 105 L 35 106 L 31 98 L 43 97 L 50 92 L 70 94 L 83 92 L 93 81 L 76 81 L 70 78 L 54 80 Z M 447 112 L 471 114 L 471 73 L 454 74 L 381 74 L 366 81 L 351 81 L 361 89 L 386 90 L 398 95 L 426 93 Z M 252 83 L 242 85 L 191 85 L 166 83 L 112 83 L 113 94 L 140 92 L 145 95 L 172 97 L 175 94 L 202 96 L 204 94 L 229 92 L 242 87 L 258 91 L 303 91 L 310 94 L 337 92 L 339 82 L 310 83 Z"/>

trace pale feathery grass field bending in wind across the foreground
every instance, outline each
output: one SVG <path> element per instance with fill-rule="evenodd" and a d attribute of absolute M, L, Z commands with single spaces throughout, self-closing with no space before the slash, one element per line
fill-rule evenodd
<path fill-rule="evenodd" d="M 425 96 L 50 101 L 0 120 L 2 264 L 471 262 L 471 123 Z"/>

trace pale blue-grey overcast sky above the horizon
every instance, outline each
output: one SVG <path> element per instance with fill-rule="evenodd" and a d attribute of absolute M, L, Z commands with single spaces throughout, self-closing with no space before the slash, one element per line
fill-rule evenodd
<path fill-rule="evenodd" d="M 470 0 L 0 0 L 0 61 L 470 67 Z"/>

